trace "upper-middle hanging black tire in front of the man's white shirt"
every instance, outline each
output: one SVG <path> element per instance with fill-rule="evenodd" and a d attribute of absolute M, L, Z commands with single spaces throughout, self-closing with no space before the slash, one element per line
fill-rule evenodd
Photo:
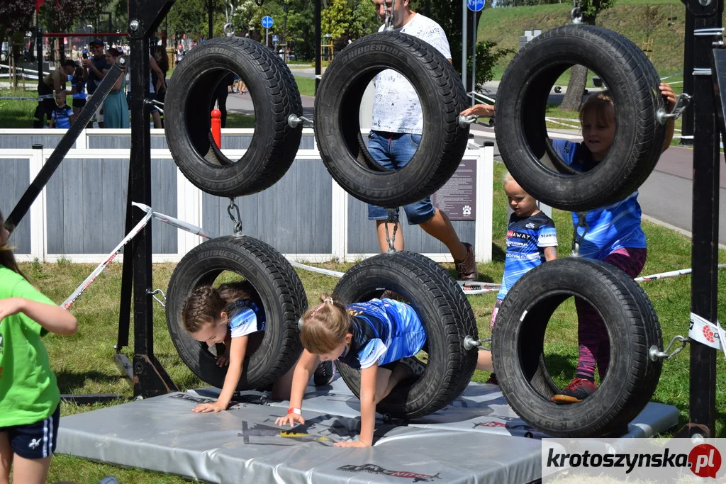
<path fill-rule="evenodd" d="M 403 74 L 423 110 L 424 134 L 403 168 L 372 166 L 360 156 L 360 103 L 368 83 L 382 70 Z M 330 175 L 363 202 L 398 207 L 441 188 L 456 171 L 469 139 L 459 113 L 467 107 L 461 79 L 433 46 L 400 32 L 365 36 L 335 56 L 315 97 L 315 139 Z"/>

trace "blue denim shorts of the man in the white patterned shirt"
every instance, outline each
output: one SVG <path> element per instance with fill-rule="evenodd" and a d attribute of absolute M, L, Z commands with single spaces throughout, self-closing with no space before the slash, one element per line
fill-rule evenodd
<path fill-rule="evenodd" d="M 368 135 L 368 152 L 383 168 L 398 170 L 411 160 L 420 142 L 420 134 L 371 131 Z M 428 221 L 436 213 L 436 209 L 431 204 L 431 197 L 404 205 L 404 211 L 409 225 L 418 225 Z M 396 208 L 396 219 L 398 216 L 399 209 Z M 368 205 L 368 220 L 386 220 L 387 218 L 388 210 L 376 205 Z"/>

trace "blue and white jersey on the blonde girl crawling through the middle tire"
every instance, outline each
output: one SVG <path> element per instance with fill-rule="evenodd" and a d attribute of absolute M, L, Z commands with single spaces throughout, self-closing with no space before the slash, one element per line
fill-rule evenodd
<path fill-rule="evenodd" d="M 353 325 L 350 348 L 338 358 L 351 368 L 385 365 L 414 356 L 426 343 L 416 311 L 392 299 L 373 299 L 348 306 Z"/>

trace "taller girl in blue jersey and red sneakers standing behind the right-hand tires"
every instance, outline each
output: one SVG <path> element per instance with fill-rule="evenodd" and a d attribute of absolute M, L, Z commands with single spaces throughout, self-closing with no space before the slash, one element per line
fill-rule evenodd
<path fill-rule="evenodd" d="M 667 99 L 669 111 L 673 110 L 676 104 L 673 89 L 661 83 L 660 90 Z M 616 123 L 613 99 L 607 92 L 593 94 L 582 104 L 579 118 L 582 143 L 554 139 L 552 144 L 565 163 L 579 171 L 588 171 L 603 160 L 613 144 Z M 673 139 L 673 120 L 669 120 L 667 130 L 662 151 Z M 582 257 L 610 263 L 631 277 L 640 274 L 645 266 L 647 248 L 645 234 L 640 227 L 637 195 L 636 191 L 624 200 L 585 213 L 587 233 L 579 248 Z M 582 235 L 584 227 L 579 226 L 578 213 L 572 213 L 572 221 L 578 234 Z M 552 397 L 552 401 L 557 403 L 579 402 L 592 395 L 596 389 L 595 366 L 602 380 L 610 363 L 610 340 L 600 314 L 579 298 L 575 298 L 575 307 L 579 360 L 575 379 Z"/>

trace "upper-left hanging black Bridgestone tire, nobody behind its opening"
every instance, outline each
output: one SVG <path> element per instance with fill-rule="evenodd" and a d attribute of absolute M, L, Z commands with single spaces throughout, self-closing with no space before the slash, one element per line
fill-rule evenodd
<path fill-rule="evenodd" d="M 211 101 L 230 71 L 248 86 L 255 107 L 255 134 L 236 162 L 211 137 Z M 241 37 L 206 41 L 187 54 L 166 93 L 166 141 L 181 173 L 197 188 L 218 197 L 261 192 L 282 178 L 295 159 L 302 125 L 287 118 L 303 108 L 290 69 L 259 42 Z"/>

